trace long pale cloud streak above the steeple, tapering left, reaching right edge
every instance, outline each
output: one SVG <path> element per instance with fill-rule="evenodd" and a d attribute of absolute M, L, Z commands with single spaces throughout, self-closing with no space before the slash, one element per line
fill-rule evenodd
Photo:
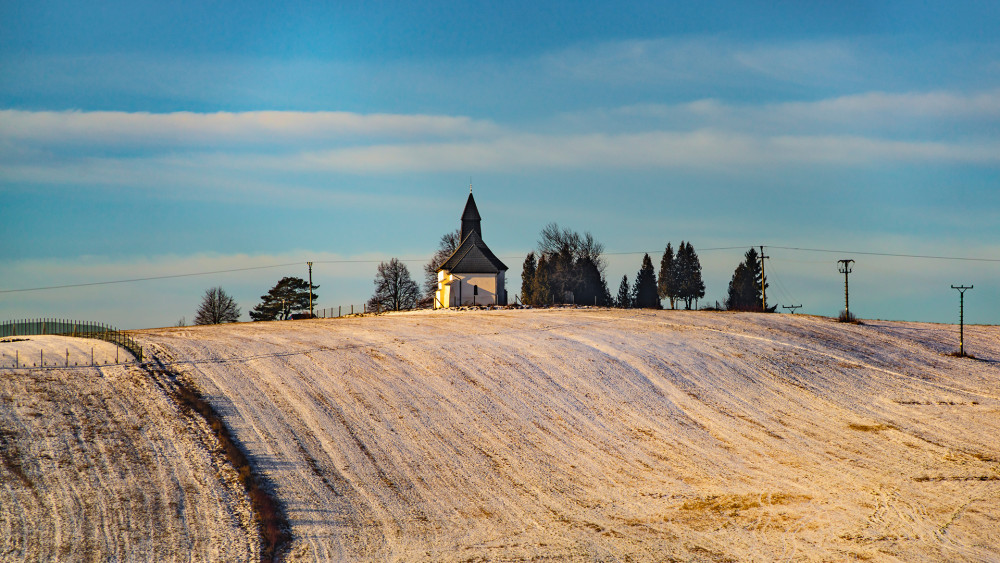
<path fill-rule="evenodd" d="M 380 173 L 546 168 L 766 169 L 775 165 L 849 166 L 886 161 L 995 164 L 1000 162 L 1000 143 L 949 144 L 832 135 L 755 136 L 714 130 L 620 135 L 521 134 L 467 143 L 352 147 L 288 159 L 279 157 L 270 165 Z"/>

